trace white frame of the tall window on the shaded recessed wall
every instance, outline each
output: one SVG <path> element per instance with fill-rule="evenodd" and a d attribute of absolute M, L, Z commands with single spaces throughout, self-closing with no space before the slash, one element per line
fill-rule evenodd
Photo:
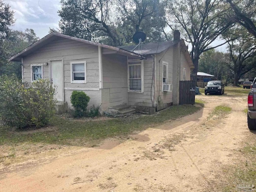
<path fill-rule="evenodd" d="M 129 62 L 140 62 L 140 64 L 129 64 Z M 140 65 L 140 78 L 131 79 L 141 79 L 141 90 L 130 90 L 130 66 Z M 128 92 L 143 93 L 144 92 L 144 61 L 139 59 L 127 59 L 127 74 L 128 74 Z"/>

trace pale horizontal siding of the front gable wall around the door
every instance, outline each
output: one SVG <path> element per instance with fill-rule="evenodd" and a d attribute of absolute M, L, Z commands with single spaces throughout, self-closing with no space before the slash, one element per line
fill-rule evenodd
<path fill-rule="evenodd" d="M 65 38 L 52 41 L 23 58 L 24 82 L 31 82 L 31 64 L 42 65 L 49 60 L 62 59 L 64 60 L 64 88 L 99 88 L 98 46 Z M 86 61 L 86 83 L 71 83 L 70 62 L 72 61 Z M 43 77 L 44 79 L 49 78 L 49 66 L 43 66 Z M 64 90 L 65 101 L 69 104 L 70 93 L 72 90 Z M 92 96 L 89 95 L 91 104 L 101 103 L 100 91 L 89 91 L 88 93 Z"/>

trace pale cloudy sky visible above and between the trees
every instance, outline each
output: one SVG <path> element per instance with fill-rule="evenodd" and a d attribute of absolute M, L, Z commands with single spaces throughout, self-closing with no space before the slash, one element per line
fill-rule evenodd
<path fill-rule="evenodd" d="M 24 31 L 26 28 L 32 28 L 39 38 L 43 38 L 49 33 L 50 28 L 58 28 L 60 17 L 60 0 L 4 0 L 14 10 L 16 19 L 14 30 Z M 212 46 L 221 44 L 221 40 L 216 40 Z M 225 52 L 226 45 L 217 48 Z"/>

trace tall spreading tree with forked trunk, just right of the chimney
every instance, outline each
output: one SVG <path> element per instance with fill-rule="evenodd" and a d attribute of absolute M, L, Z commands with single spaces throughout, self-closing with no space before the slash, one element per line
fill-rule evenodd
<path fill-rule="evenodd" d="M 233 24 L 232 20 L 226 19 L 229 8 L 221 0 L 167 1 L 172 17 L 166 22 L 170 27 L 176 24 L 182 28 L 185 40 L 192 45 L 190 54 L 195 66 L 193 72 L 197 74 L 200 55 L 225 44 L 210 47 Z"/>

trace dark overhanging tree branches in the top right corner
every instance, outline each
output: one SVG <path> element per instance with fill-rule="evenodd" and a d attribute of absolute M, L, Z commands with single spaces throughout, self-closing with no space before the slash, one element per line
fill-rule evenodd
<path fill-rule="evenodd" d="M 244 26 L 256 38 L 256 2 L 255 0 L 226 0 L 233 14 L 230 18 Z"/>

